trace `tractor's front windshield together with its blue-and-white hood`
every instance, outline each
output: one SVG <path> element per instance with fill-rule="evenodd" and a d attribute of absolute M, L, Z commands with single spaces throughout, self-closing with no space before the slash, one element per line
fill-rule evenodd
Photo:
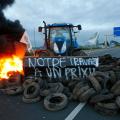
<path fill-rule="evenodd" d="M 64 54 L 70 46 L 70 30 L 68 27 L 50 28 L 50 48 L 57 54 Z"/>

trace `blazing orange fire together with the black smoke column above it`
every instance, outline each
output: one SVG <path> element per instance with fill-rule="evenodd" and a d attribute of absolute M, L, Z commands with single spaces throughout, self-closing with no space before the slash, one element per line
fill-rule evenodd
<path fill-rule="evenodd" d="M 15 74 L 23 75 L 26 44 L 20 40 L 25 29 L 19 20 L 8 20 L 3 13 L 14 2 L 14 0 L 0 0 L 0 81 L 8 81 Z"/>

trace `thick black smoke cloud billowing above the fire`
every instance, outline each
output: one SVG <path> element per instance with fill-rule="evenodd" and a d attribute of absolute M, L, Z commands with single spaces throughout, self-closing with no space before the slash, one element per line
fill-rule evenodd
<path fill-rule="evenodd" d="M 4 16 L 3 10 L 13 5 L 15 0 L 0 0 L 0 35 L 11 35 L 13 40 L 19 41 L 25 29 L 19 20 L 11 21 Z M 17 13 L 17 11 L 16 11 Z"/>

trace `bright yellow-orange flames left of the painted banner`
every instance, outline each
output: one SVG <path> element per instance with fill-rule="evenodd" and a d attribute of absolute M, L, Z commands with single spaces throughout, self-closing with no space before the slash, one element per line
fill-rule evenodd
<path fill-rule="evenodd" d="M 22 59 L 15 55 L 0 59 L 0 80 L 8 79 L 14 73 L 23 74 Z"/>

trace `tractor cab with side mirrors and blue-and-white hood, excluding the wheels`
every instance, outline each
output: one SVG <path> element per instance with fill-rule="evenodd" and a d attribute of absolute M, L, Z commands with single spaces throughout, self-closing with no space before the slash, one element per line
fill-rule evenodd
<path fill-rule="evenodd" d="M 39 32 L 44 29 L 45 49 L 50 50 L 54 55 L 70 55 L 73 49 L 78 48 L 74 27 L 81 30 L 81 25 L 73 26 L 67 23 L 48 24 L 44 22 L 44 27 L 39 27 Z"/>

